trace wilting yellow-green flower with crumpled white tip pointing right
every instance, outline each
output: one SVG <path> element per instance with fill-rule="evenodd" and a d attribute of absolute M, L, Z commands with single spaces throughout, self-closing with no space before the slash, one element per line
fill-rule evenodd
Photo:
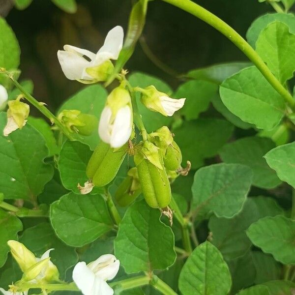
<path fill-rule="evenodd" d="M 142 103 L 149 110 L 158 112 L 163 116 L 173 116 L 184 105 L 185 98 L 170 98 L 166 93 L 158 91 L 154 86 L 139 90 L 142 92 Z"/>

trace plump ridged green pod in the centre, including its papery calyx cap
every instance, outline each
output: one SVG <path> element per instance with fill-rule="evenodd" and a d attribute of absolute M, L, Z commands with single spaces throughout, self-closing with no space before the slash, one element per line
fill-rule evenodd
<path fill-rule="evenodd" d="M 137 148 L 134 162 L 146 202 L 150 207 L 163 208 L 168 206 L 171 200 L 170 183 L 164 169 L 161 150 L 154 146 L 155 149 L 151 151 L 147 147 L 151 147 L 152 144 L 148 143 L 147 145 L 147 143 L 145 142 L 142 147 Z"/>

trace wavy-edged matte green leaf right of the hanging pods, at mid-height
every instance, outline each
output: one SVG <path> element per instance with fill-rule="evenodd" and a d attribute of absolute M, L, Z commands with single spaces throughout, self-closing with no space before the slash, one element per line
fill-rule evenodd
<path fill-rule="evenodd" d="M 199 169 L 192 186 L 192 214 L 213 211 L 218 217 L 233 217 L 246 201 L 251 181 L 252 171 L 244 165 L 221 163 Z"/>

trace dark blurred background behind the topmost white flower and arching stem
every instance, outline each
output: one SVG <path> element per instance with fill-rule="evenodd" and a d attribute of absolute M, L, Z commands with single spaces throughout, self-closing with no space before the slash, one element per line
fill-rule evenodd
<path fill-rule="evenodd" d="M 242 36 L 259 15 L 272 8 L 258 0 L 198 0 L 198 4 L 221 17 Z M 0 0 L 0 15 L 14 30 L 21 47 L 21 80 L 31 79 L 34 96 L 56 110 L 61 102 L 84 87 L 67 80 L 61 72 L 57 51 L 64 44 L 97 52 L 106 33 L 117 25 L 127 29 L 132 0 L 77 0 L 76 13 L 62 11 L 50 0 L 33 0 L 17 10 L 13 0 Z M 148 4 L 142 44 L 125 68 L 142 71 L 179 84 L 177 73 L 213 63 L 246 60 L 223 35 L 180 9 L 154 0 Z M 148 58 L 148 49 L 169 66 L 172 74 Z M 143 50 L 143 47 L 145 50 Z"/>

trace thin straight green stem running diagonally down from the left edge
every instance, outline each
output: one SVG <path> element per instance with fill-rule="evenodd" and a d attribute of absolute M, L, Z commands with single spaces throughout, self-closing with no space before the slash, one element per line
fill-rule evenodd
<path fill-rule="evenodd" d="M 59 119 L 53 113 L 51 113 L 43 104 L 40 104 L 39 101 L 37 101 L 32 95 L 30 95 L 29 92 L 26 91 L 26 89 L 24 89 L 16 80 L 13 79 L 9 72 L 5 71 L 4 73 L 10 78 L 13 84 L 24 94 L 25 98 L 35 108 L 37 108 L 45 117 L 49 118 L 50 121 L 54 122 L 68 139 L 73 140 L 69 131 L 61 124 Z"/>

